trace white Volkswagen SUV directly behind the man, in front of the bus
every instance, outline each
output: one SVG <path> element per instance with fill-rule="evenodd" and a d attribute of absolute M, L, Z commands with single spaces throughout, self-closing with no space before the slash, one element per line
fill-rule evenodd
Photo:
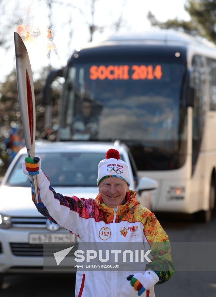
<path fill-rule="evenodd" d="M 150 178 L 137 180 L 136 167 L 127 146 L 115 143 L 37 142 L 36 155 L 41 169 L 56 192 L 95 198 L 98 194 L 98 163 L 110 148 L 118 149 L 129 167 L 130 189 L 141 191 L 157 187 Z M 0 287 L 8 272 L 43 271 L 43 242 L 74 242 L 78 238 L 43 217 L 31 199 L 29 178 L 22 172 L 26 148 L 21 149 L 7 170 L 0 186 Z M 148 193 L 148 195 L 146 195 Z M 150 207 L 149 192 L 138 200 Z"/>

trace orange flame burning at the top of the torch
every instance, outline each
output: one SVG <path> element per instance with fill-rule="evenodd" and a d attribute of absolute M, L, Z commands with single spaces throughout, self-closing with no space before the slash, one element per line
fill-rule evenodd
<path fill-rule="evenodd" d="M 28 25 L 18 25 L 15 31 L 25 42 L 34 44 L 40 48 L 43 47 L 46 53 L 49 53 L 55 48 L 55 44 L 51 40 L 51 29 L 40 30 L 39 28 L 33 28 Z"/>

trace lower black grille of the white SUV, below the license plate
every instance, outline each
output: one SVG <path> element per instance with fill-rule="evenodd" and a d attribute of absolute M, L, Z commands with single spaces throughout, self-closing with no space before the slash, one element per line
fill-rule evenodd
<path fill-rule="evenodd" d="M 74 243 L 73 243 L 74 244 Z M 78 243 L 74 244 L 75 249 L 78 249 Z M 29 244 L 29 243 L 10 243 L 12 254 L 23 257 L 43 257 L 43 244 Z M 59 248 L 50 248 L 50 253 L 46 248 L 46 256 L 53 255 L 54 252 L 59 252 Z"/>

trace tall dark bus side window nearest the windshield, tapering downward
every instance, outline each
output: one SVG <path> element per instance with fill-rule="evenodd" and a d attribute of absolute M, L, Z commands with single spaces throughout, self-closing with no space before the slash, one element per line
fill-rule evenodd
<path fill-rule="evenodd" d="M 195 88 L 196 96 L 193 107 L 192 120 L 192 173 L 194 172 L 198 153 L 200 150 L 202 132 L 206 113 L 206 71 L 204 57 L 195 55 L 192 59 L 191 86 Z"/>

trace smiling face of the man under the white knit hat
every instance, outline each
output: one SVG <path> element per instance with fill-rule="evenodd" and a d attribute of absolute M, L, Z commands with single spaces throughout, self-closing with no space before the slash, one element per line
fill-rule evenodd
<path fill-rule="evenodd" d="M 118 177 L 107 177 L 98 186 L 104 203 L 109 207 L 123 204 L 129 186 Z"/>

